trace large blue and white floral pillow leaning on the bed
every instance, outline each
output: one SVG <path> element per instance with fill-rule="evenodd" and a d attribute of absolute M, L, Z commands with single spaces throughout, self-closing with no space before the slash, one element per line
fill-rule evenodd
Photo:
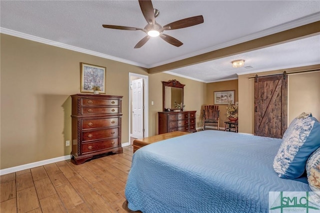
<path fill-rule="evenodd" d="M 315 117 L 296 119 L 286 130 L 273 160 L 281 178 L 297 178 L 304 172 L 306 160 L 320 147 L 320 123 Z"/>

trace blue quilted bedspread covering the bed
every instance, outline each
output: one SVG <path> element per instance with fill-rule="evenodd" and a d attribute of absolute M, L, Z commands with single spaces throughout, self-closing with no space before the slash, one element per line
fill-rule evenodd
<path fill-rule="evenodd" d="M 306 177 L 279 178 L 281 139 L 205 130 L 133 154 L 125 196 L 142 212 L 268 212 L 269 191 L 307 191 Z"/>

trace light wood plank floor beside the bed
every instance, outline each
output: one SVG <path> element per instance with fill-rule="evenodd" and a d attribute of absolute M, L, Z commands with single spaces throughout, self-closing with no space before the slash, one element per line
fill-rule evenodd
<path fill-rule="evenodd" d="M 132 212 L 124 187 L 132 146 L 74 165 L 63 160 L 0 176 L 0 212 Z"/>

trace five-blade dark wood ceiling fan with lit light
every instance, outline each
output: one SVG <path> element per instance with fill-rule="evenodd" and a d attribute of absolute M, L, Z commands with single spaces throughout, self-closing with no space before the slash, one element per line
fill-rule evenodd
<path fill-rule="evenodd" d="M 104 28 L 112 28 L 112 29 L 124 29 L 124 30 L 139 30 L 144 31 L 147 35 L 144 36 L 135 46 L 134 48 L 140 48 L 143 46 L 146 41 L 149 40 L 150 36 L 160 36 L 163 40 L 166 42 L 174 45 L 174 46 L 181 46 L 183 43 L 179 41 L 178 39 L 164 34 L 164 30 L 170 30 L 170 29 L 179 29 L 184 27 L 193 26 L 199 23 L 203 23 L 203 16 L 197 15 L 192 17 L 187 17 L 181 20 L 174 21 L 172 23 L 168 23 L 164 26 L 161 26 L 155 21 L 155 17 L 159 15 L 159 10 L 153 8 L 151 0 L 139 0 L 140 8 L 142 11 L 142 14 L 147 22 L 147 24 L 144 26 L 144 28 L 137 28 L 137 27 L 130 27 L 130 26 L 118 26 L 118 25 L 107 25 L 102 24 Z"/>

